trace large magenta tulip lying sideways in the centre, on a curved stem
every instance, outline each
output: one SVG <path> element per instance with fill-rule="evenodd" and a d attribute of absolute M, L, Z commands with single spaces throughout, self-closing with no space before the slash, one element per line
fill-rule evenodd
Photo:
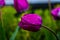
<path fill-rule="evenodd" d="M 41 28 L 42 18 L 37 14 L 25 14 L 19 22 L 20 28 L 36 32 Z"/>

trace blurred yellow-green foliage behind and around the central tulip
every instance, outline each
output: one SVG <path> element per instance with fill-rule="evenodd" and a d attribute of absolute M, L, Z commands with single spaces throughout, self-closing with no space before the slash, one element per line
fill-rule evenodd
<path fill-rule="evenodd" d="M 0 12 L 2 12 L 2 21 L 0 16 L 0 40 L 9 40 L 9 38 L 15 31 L 22 14 L 18 18 L 16 18 L 14 16 L 16 10 L 12 6 L 5 6 L 0 10 Z M 26 11 L 26 13 L 30 12 L 31 10 Z M 40 15 L 43 19 L 43 24 L 54 30 L 60 38 L 60 20 L 54 20 L 52 15 L 49 13 L 48 8 L 46 8 L 45 10 L 42 10 L 42 8 L 36 9 L 34 10 L 34 13 Z M 41 28 L 38 32 L 30 32 L 19 29 L 15 40 L 56 40 L 56 38 L 45 28 Z"/>

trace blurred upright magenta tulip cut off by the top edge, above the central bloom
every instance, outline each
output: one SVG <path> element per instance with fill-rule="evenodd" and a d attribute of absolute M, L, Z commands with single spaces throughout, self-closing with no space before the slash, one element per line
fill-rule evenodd
<path fill-rule="evenodd" d="M 14 7 L 17 12 L 28 10 L 29 4 L 27 0 L 14 0 Z"/>

